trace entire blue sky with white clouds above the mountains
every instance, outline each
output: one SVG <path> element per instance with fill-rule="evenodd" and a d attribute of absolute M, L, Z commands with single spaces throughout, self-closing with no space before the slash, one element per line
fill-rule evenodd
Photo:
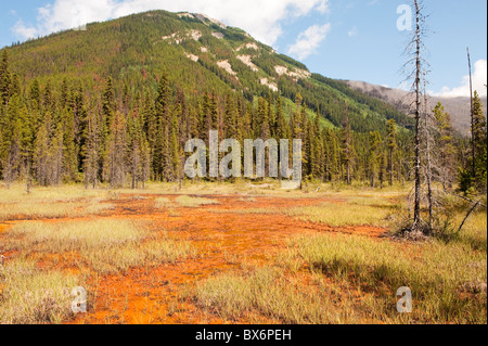
<path fill-rule="evenodd" d="M 0 46 L 151 9 L 206 13 L 237 26 L 311 72 L 402 87 L 409 31 L 397 29 L 397 8 L 409 0 L 23 0 L 0 3 Z M 466 47 L 474 85 L 486 95 L 487 2 L 425 0 L 432 93 L 467 93 Z"/>

